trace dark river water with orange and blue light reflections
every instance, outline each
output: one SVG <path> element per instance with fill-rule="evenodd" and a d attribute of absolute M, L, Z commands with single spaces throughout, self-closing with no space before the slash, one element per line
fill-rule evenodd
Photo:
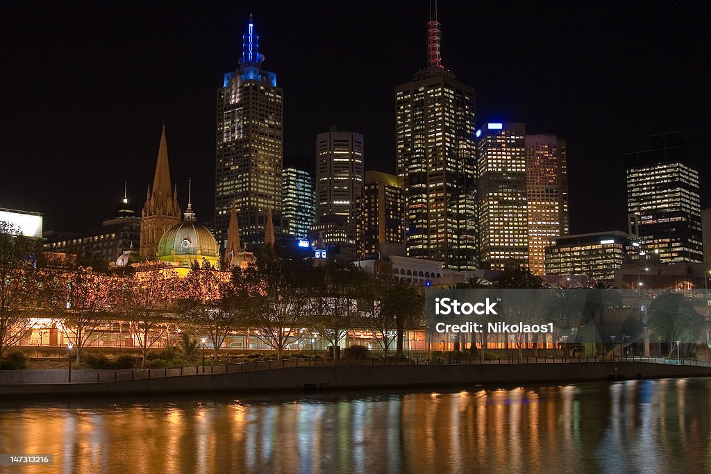
<path fill-rule="evenodd" d="M 0 401 L 5 473 L 711 471 L 711 379 Z"/>

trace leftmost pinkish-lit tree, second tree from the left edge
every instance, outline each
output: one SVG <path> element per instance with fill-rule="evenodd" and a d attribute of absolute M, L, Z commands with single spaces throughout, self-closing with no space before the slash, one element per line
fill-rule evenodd
<path fill-rule="evenodd" d="M 60 326 L 77 352 L 80 364 L 84 349 L 99 340 L 97 331 L 114 308 L 117 277 L 97 274 L 91 267 L 79 266 L 55 280 L 55 298 L 62 317 Z"/>

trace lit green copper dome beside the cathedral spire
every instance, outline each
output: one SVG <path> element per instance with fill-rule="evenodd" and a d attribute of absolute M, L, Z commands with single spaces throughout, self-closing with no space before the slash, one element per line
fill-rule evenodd
<path fill-rule="evenodd" d="M 219 257 L 219 253 L 218 242 L 208 228 L 194 220 L 186 220 L 166 230 L 158 243 L 156 256 L 159 259 L 171 255 Z"/>

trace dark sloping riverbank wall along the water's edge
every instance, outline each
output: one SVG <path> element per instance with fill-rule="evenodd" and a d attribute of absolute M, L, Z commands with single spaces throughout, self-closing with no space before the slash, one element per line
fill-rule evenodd
<path fill-rule="evenodd" d="M 476 384 L 708 377 L 710 367 L 648 362 L 506 365 L 286 367 L 118 382 L 2 384 L 0 397 L 82 397 L 191 392 L 304 392 L 333 389 L 471 387 Z"/>

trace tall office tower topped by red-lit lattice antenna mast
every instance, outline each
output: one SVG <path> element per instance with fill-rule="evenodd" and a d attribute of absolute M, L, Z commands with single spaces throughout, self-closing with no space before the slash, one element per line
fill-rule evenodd
<path fill-rule="evenodd" d="M 476 269 L 474 88 L 442 66 L 436 12 L 427 31 L 427 68 L 395 88 L 407 255 L 444 262 L 449 269 Z"/>

